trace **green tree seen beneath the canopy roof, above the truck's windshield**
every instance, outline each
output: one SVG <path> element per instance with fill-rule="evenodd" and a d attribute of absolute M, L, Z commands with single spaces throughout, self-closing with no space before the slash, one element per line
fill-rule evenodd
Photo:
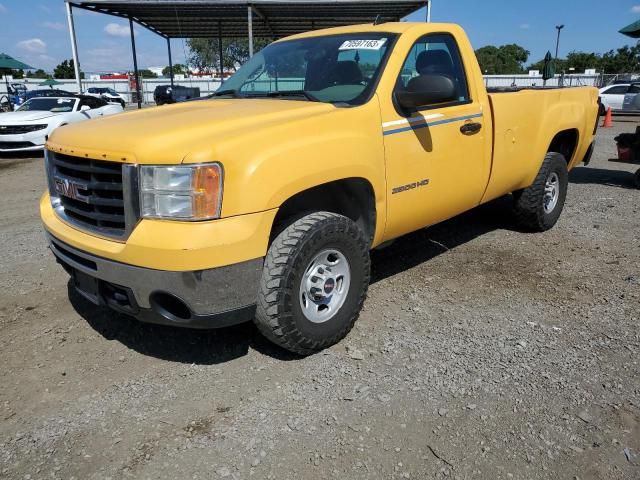
<path fill-rule="evenodd" d="M 263 38 L 255 38 L 254 50 L 262 50 L 271 41 Z M 201 72 L 215 72 L 220 68 L 220 53 L 218 39 L 190 38 L 187 40 L 189 47 L 189 64 Z M 222 57 L 225 70 L 236 70 L 249 59 L 249 40 L 244 38 L 223 38 Z"/>

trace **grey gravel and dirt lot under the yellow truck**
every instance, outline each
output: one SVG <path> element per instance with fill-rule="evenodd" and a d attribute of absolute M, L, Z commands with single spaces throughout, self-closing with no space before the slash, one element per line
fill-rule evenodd
<path fill-rule="evenodd" d="M 356 328 L 304 359 L 70 302 L 42 159 L 0 158 L 0 478 L 640 478 L 640 191 L 606 161 L 636 123 L 551 232 L 501 199 L 375 252 Z"/>

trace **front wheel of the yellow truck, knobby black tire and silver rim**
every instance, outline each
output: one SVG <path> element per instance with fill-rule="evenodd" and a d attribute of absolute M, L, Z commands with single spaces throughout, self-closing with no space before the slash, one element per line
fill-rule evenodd
<path fill-rule="evenodd" d="M 342 215 L 306 215 L 269 247 L 255 323 L 265 337 L 291 352 L 318 352 L 351 331 L 369 280 L 364 232 Z"/>

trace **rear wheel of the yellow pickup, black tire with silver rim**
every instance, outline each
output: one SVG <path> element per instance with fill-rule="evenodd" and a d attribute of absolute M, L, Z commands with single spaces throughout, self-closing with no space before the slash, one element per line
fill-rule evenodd
<path fill-rule="evenodd" d="M 518 224 L 532 232 L 545 232 L 553 228 L 564 208 L 568 184 L 569 174 L 564 156 L 547 153 L 533 184 L 514 194 Z M 547 192 L 551 188 L 553 193 Z"/>

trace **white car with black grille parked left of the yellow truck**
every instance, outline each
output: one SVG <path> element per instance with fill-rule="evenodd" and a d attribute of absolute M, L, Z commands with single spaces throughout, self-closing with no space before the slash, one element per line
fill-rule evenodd
<path fill-rule="evenodd" d="M 0 113 L 0 152 L 42 150 L 56 128 L 122 112 L 120 105 L 86 95 L 40 97 Z"/>

